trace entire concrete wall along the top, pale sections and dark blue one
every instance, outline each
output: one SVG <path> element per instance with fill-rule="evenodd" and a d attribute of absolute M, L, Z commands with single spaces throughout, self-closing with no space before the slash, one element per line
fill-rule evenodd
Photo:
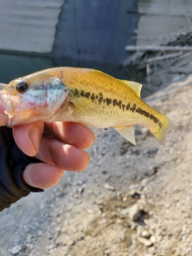
<path fill-rule="evenodd" d="M 0 51 L 119 63 L 136 29 L 142 45 L 191 23 L 191 0 L 0 0 Z"/>

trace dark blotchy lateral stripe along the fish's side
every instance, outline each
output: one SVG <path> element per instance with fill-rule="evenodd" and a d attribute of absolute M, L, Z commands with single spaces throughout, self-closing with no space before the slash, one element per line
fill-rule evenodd
<path fill-rule="evenodd" d="M 103 94 L 99 93 L 98 95 L 95 95 L 94 93 L 90 93 L 90 92 L 84 92 L 83 90 L 78 91 L 77 89 L 71 90 L 70 91 L 71 94 L 75 97 L 85 97 L 85 98 L 90 98 L 92 101 L 94 101 L 95 99 L 98 100 L 98 103 L 101 104 L 101 102 L 106 103 L 107 106 L 109 106 L 110 104 L 112 104 L 113 106 L 118 106 L 120 109 L 122 109 L 122 111 L 132 111 L 137 112 L 141 115 L 144 115 L 147 118 L 152 119 L 155 123 L 159 123 L 159 126 L 161 127 L 161 123 L 159 122 L 159 119 L 157 117 L 155 117 L 153 114 L 148 113 L 145 110 L 142 110 L 141 108 L 137 108 L 136 104 L 133 104 L 133 106 L 130 105 L 130 103 L 124 105 L 122 104 L 121 100 L 117 100 L 117 99 L 110 99 L 110 98 L 103 98 Z"/>

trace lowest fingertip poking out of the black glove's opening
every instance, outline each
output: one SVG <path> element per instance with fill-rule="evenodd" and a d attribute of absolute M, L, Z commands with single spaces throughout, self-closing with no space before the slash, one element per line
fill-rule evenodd
<path fill-rule="evenodd" d="M 23 181 L 38 188 L 49 188 L 56 185 L 63 175 L 63 170 L 58 166 L 47 163 L 28 164 L 22 173 Z"/>

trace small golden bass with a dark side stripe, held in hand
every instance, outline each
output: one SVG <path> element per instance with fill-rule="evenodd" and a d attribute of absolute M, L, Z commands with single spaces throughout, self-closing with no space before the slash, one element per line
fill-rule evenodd
<path fill-rule="evenodd" d="M 158 142 L 172 122 L 140 98 L 142 84 L 87 68 L 57 67 L 12 80 L 0 91 L 8 127 L 36 120 L 113 127 L 136 145 L 134 124 L 146 126 Z"/>

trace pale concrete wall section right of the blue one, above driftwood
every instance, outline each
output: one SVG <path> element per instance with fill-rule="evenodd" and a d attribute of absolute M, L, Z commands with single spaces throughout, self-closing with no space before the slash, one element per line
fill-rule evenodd
<path fill-rule="evenodd" d="M 139 0 L 137 45 L 192 25 L 191 0 Z"/>

